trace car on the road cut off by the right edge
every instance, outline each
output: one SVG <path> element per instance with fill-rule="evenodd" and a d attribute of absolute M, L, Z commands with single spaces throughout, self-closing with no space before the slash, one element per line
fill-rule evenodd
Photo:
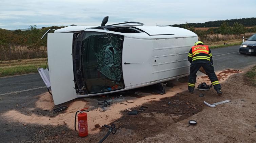
<path fill-rule="evenodd" d="M 247 41 L 244 41 L 240 48 L 240 54 L 250 54 L 256 55 L 256 34 L 253 34 L 251 37 L 246 38 Z"/>

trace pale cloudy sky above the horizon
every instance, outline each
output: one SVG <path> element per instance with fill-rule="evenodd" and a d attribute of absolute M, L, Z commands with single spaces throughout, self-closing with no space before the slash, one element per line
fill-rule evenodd
<path fill-rule="evenodd" d="M 145 25 L 256 17 L 256 0 L 0 0 L 0 28 L 136 21 Z"/>

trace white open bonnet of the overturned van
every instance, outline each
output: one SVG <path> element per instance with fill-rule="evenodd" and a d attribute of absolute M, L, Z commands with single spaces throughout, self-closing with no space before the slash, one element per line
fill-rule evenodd
<path fill-rule="evenodd" d="M 48 33 L 47 54 L 54 104 L 77 98 L 74 89 L 73 33 Z"/>

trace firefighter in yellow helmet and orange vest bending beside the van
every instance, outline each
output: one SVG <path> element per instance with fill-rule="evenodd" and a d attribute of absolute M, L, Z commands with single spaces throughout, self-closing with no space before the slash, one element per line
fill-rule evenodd
<path fill-rule="evenodd" d="M 210 78 L 214 89 L 217 91 L 217 94 L 222 94 L 220 90 L 221 85 L 217 79 L 216 74 L 214 73 L 213 58 L 209 47 L 207 45 L 204 45 L 201 41 L 196 42 L 189 51 L 188 60 L 191 63 L 188 82 L 189 92 L 194 93 L 196 73 L 200 67 L 203 67 L 206 75 L 208 75 L 208 77 Z"/>

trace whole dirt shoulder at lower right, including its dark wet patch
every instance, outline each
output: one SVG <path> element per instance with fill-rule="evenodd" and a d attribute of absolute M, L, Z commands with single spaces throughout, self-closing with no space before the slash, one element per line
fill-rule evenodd
<path fill-rule="evenodd" d="M 145 104 L 145 114 L 123 117 L 116 121 L 121 126 L 120 142 L 197 143 L 197 142 L 256 142 L 256 88 L 244 84 L 244 73 L 231 76 L 222 83 L 223 95 L 215 91 L 194 94 L 182 92 L 159 102 Z M 206 94 L 199 97 L 200 93 Z M 208 107 L 203 101 L 229 103 Z M 168 102 L 171 105 L 168 105 Z M 189 120 L 197 125 L 187 127 Z M 115 135 L 117 136 L 117 135 Z M 127 137 L 128 136 L 128 137 Z"/>

